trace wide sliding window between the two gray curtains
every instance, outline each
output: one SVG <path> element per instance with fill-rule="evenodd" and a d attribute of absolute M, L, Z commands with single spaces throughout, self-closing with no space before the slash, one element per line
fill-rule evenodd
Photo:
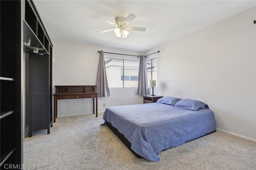
<path fill-rule="evenodd" d="M 138 61 L 105 57 L 109 87 L 137 87 Z"/>

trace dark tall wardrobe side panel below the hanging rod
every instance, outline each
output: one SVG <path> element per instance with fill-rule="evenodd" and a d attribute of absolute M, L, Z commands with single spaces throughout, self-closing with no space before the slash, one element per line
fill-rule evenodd
<path fill-rule="evenodd" d="M 29 136 L 47 129 L 50 134 L 49 55 L 29 54 Z"/>

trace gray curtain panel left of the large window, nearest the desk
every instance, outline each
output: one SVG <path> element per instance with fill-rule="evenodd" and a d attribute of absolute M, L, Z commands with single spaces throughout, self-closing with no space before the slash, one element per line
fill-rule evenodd
<path fill-rule="evenodd" d="M 96 79 L 96 92 L 99 93 L 98 97 L 110 96 L 103 51 L 100 51 L 100 59 Z"/>

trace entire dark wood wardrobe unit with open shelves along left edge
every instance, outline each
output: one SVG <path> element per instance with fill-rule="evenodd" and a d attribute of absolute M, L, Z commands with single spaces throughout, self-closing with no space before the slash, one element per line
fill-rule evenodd
<path fill-rule="evenodd" d="M 29 136 L 52 126 L 53 45 L 32 0 L 0 0 L 0 22 L 0 169 L 23 169 L 24 107 Z"/>

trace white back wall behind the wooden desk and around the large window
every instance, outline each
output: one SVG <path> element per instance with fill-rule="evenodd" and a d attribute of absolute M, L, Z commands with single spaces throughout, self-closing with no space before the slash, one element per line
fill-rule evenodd
<path fill-rule="evenodd" d="M 55 93 L 54 85 L 95 85 L 100 50 L 130 55 L 142 54 L 136 51 L 60 40 L 53 40 L 53 45 L 55 59 L 52 66 L 53 93 Z M 120 57 L 120 55 L 108 54 L 108 57 Z M 138 57 L 129 58 L 138 59 Z M 137 88 L 132 87 L 110 88 L 110 97 L 98 98 L 98 111 L 104 111 L 108 106 L 143 103 L 142 97 L 136 95 L 136 92 Z M 106 107 L 103 107 L 103 103 Z M 92 99 L 58 100 L 58 117 L 84 113 L 92 113 Z"/>

